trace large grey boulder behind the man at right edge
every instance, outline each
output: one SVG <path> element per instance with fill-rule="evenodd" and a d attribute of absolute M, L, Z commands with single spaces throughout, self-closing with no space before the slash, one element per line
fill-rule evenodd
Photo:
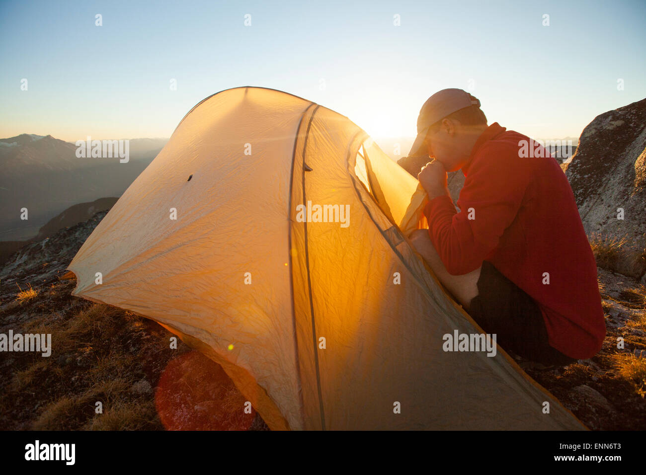
<path fill-rule="evenodd" d="M 646 99 L 590 122 L 565 174 L 589 235 L 625 239 L 622 273 L 646 270 Z"/>

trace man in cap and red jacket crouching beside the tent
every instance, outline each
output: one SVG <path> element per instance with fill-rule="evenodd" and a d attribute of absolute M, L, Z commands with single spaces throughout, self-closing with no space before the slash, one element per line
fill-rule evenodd
<path fill-rule="evenodd" d="M 547 365 L 596 354 L 606 333 L 596 262 L 556 160 L 487 125 L 461 89 L 433 94 L 417 132 L 410 155 L 434 158 L 417 176 L 430 229 L 410 239 L 438 279 L 505 350 Z M 446 173 L 459 169 L 457 212 Z"/>

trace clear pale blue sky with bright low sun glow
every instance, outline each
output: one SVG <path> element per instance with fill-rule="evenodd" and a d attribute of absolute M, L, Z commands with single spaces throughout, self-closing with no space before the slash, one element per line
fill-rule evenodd
<path fill-rule="evenodd" d="M 490 123 L 578 137 L 646 97 L 645 19 L 643 0 L 0 0 L 0 137 L 169 137 L 200 100 L 244 85 L 313 100 L 375 138 L 413 136 L 446 87 L 479 98 Z"/>

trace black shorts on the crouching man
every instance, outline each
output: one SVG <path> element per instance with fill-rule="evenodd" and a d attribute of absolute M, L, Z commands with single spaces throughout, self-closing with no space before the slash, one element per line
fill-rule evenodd
<path fill-rule="evenodd" d="M 472 299 L 468 313 L 486 333 L 496 334 L 496 343 L 503 349 L 546 366 L 576 361 L 548 344 L 536 301 L 491 262 L 483 262 L 477 286 L 479 295 Z"/>

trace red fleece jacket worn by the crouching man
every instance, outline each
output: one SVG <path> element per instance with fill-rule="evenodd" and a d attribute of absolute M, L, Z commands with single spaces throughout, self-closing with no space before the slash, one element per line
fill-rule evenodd
<path fill-rule="evenodd" d="M 528 144 L 526 158 L 521 141 Z M 538 143 L 496 122 L 462 171 L 459 213 L 448 195 L 424 208 L 448 272 L 466 274 L 488 260 L 539 304 L 553 348 L 592 357 L 606 334 L 597 266 L 559 164 Z"/>

